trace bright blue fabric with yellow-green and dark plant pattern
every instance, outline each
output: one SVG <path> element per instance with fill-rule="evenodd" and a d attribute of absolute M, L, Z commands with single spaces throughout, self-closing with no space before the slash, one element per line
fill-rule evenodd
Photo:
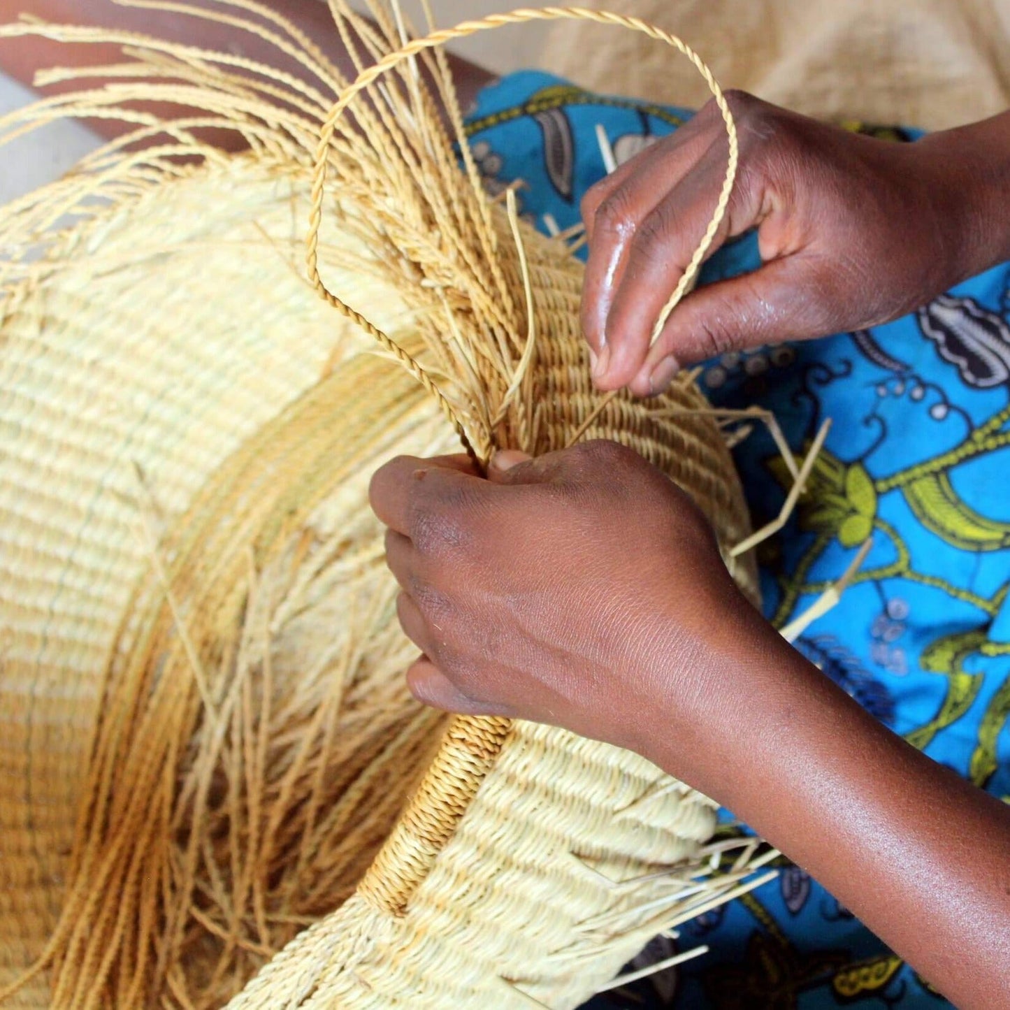
<path fill-rule="evenodd" d="M 690 113 L 591 95 L 546 74 L 484 91 L 469 118 L 494 189 L 521 179 L 534 223 L 579 221 L 604 175 L 596 127 L 618 162 Z M 899 129 L 853 124 L 895 140 Z M 545 216 L 545 215 L 549 215 Z M 703 283 L 752 270 L 752 236 L 708 265 Z M 1010 799 L 1010 266 L 886 326 L 726 355 L 701 383 L 720 406 L 775 412 L 800 452 L 833 426 L 809 493 L 760 556 L 768 617 L 781 626 L 872 550 L 841 604 L 799 641 L 878 718 L 997 797 Z M 735 450 L 758 525 L 788 487 L 771 438 Z M 652 962 L 706 943 L 711 952 L 597 997 L 590 1007 L 814 1008 L 948 1005 L 802 871 L 656 940 Z"/>

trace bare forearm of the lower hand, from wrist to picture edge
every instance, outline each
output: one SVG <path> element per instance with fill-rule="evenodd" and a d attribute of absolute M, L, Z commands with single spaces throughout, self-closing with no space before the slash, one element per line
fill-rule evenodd
<path fill-rule="evenodd" d="M 763 638 L 751 654 L 763 671 L 748 671 L 747 696 L 725 705 L 702 773 L 712 795 L 962 1010 L 1010 1007 L 1010 810 L 784 643 Z M 733 672 L 723 680 L 733 692 Z M 761 728 L 740 738 L 741 725 Z"/>

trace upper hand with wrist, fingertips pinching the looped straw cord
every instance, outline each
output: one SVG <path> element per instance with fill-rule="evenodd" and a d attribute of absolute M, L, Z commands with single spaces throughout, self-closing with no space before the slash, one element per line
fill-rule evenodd
<path fill-rule="evenodd" d="M 646 396 L 724 351 L 886 322 L 1010 255 L 1010 114 L 894 143 L 728 97 L 739 174 L 713 251 L 756 228 L 764 266 L 696 290 L 648 347 L 725 176 L 709 103 L 583 200 L 583 329 L 601 389 Z"/>

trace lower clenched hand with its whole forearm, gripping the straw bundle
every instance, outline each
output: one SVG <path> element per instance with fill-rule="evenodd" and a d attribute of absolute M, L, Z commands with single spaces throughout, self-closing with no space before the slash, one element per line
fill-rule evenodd
<path fill-rule="evenodd" d="M 886 729 L 768 625 L 686 496 L 627 449 L 394 460 L 422 701 L 637 750 L 728 806 L 965 1010 L 1008 1008 L 1010 810 Z M 511 466 L 510 466 L 511 465 Z"/>

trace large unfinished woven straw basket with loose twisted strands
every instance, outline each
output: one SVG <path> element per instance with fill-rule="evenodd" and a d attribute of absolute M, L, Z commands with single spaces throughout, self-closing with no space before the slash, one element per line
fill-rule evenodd
<path fill-rule="evenodd" d="M 646 761 L 410 698 L 367 502 L 383 461 L 461 434 L 479 462 L 613 438 L 691 494 L 756 597 L 703 398 L 593 390 L 581 266 L 485 196 L 434 46 L 595 17 L 702 65 L 554 9 L 394 54 L 397 9 L 372 29 L 332 6 L 381 61 L 352 86 L 268 7 L 220 0 L 194 15 L 312 83 L 106 32 L 131 61 L 112 84 L 0 123 L 133 124 L 0 218 L 4 1005 L 573 1007 L 748 886 L 752 846 L 711 844 L 713 804 Z M 247 154 L 202 142 L 222 126 Z"/>

